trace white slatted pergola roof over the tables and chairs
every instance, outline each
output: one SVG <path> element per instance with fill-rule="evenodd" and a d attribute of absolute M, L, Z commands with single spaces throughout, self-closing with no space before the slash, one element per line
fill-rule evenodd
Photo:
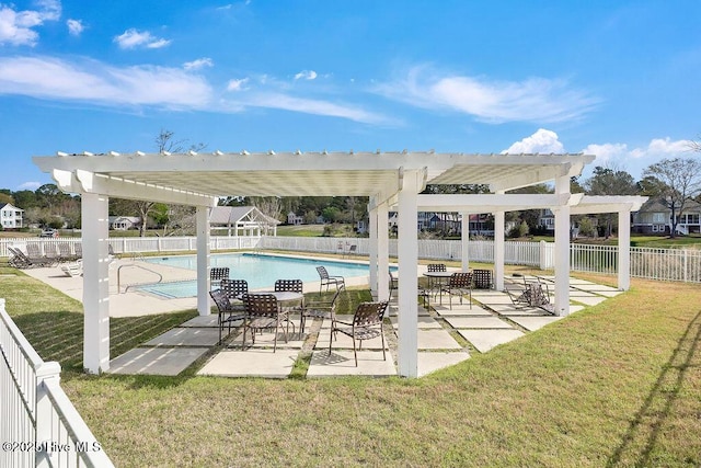
<path fill-rule="evenodd" d="M 202 197 L 377 196 L 389 199 L 406 171 L 425 184 L 490 184 L 512 190 L 562 175 L 578 175 L 590 155 L 468 155 L 397 152 L 221 152 L 90 153 L 34 157 L 68 192 L 97 191 L 122 197 L 175 194 L 203 204 Z M 100 185 L 96 187 L 95 185 Z M 176 203 L 176 202 L 173 202 Z M 181 203 L 185 203 L 181 199 Z"/>

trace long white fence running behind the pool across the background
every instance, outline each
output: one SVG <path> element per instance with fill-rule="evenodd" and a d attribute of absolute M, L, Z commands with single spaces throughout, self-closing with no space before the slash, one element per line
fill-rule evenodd
<path fill-rule="evenodd" d="M 212 251 L 220 250 L 287 250 L 310 253 L 355 253 L 368 255 L 367 238 L 307 238 L 307 237 L 211 237 Z M 49 243 L 66 242 L 74 250 L 80 239 L 18 238 L 0 240 L 0 256 L 9 256 L 7 247 L 25 248 L 39 244 L 42 252 Z M 194 237 L 163 238 L 110 238 L 115 253 L 138 255 L 153 252 L 192 252 L 196 250 Z M 494 241 L 471 240 L 470 261 L 494 263 Z M 25 249 L 24 249 L 25 250 Z M 397 240 L 389 243 L 391 256 L 397 256 Z M 427 260 L 455 260 L 462 258 L 459 240 L 420 240 L 418 258 Z M 507 241 L 505 262 L 510 265 L 552 270 L 555 264 L 554 243 Z M 572 271 L 614 274 L 618 271 L 618 247 L 573 243 L 570 248 Z M 631 248 L 631 276 L 647 279 L 701 283 L 701 250 Z"/>

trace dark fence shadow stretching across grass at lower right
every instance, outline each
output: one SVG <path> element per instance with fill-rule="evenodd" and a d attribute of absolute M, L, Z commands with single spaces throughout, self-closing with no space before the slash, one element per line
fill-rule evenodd
<path fill-rule="evenodd" d="M 665 364 L 651 392 L 645 398 L 642 408 L 631 422 L 623 442 L 609 458 L 607 467 L 619 466 L 627 452 L 635 446 L 642 447 L 634 466 L 650 466 L 651 456 L 657 444 L 660 431 L 665 427 L 665 420 L 670 415 L 673 404 L 679 398 L 689 367 L 692 365 L 699 342 L 701 341 L 701 312 L 689 322 L 687 330 L 679 340 L 679 344 Z M 697 460 L 698 461 L 698 460 Z"/>

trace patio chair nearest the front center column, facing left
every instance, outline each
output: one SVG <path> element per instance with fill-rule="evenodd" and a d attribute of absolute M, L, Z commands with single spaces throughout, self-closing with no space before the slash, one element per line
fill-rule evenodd
<path fill-rule="evenodd" d="M 387 352 L 384 350 L 384 331 L 382 330 L 382 318 L 387 310 L 387 301 L 361 303 L 355 310 L 352 322 L 334 320 L 331 327 L 331 339 L 329 340 L 329 355 L 331 355 L 333 338 L 341 332 L 353 339 L 353 355 L 355 357 L 356 367 L 358 367 L 357 350 L 363 347 L 363 340 L 371 340 L 377 336 L 382 338 L 382 358 L 387 361 Z M 357 346 L 356 340 L 358 341 Z"/>

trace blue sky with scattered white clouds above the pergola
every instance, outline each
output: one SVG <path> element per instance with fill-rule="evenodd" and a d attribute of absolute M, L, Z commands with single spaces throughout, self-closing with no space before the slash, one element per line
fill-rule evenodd
<path fill-rule="evenodd" d="M 32 156 L 154 151 L 161 129 L 207 151 L 585 151 L 639 178 L 701 157 L 700 16 L 697 0 L 0 3 L 0 189 L 53 182 Z"/>

